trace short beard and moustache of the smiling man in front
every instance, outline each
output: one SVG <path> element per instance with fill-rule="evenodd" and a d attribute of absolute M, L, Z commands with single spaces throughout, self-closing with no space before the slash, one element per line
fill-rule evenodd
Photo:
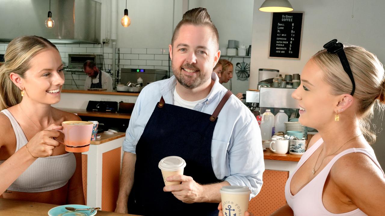
<path fill-rule="evenodd" d="M 189 68 L 192 70 L 199 70 L 199 74 L 197 77 L 194 78 L 194 76 L 185 75 L 182 73 L 182 68 L 177 68 L 174 66 L 174 64 L 171 63 L 172 71 L 176 77 L 176 80 L 185 88 L 187 89 L 194 89 L 198 88 L 199 86 L 203 85 L 210 77 L 211 73 L 205 73 L 204 71 L 199 70 L 195 65 L 193 64 L 184 64 L 182 65 L 182 68 Z M 194 72 L 195 73 L 195 72 Z"/>

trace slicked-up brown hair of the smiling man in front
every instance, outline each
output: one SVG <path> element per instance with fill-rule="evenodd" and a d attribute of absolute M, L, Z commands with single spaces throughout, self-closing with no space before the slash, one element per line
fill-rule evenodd
<path fill-rule="evenodd" d="M 175 27 L 174 33 L 172 34 L 171 46 L 174 45 L 175 38 L 178 36 L 179 29 L 182 25 L 203 25 L 208 26 L 214 33 L 216 38 L 217 50 L 219 49 L 219 34 L 206 8 L 194 8 L 183 14 L 182 20 Z"/>

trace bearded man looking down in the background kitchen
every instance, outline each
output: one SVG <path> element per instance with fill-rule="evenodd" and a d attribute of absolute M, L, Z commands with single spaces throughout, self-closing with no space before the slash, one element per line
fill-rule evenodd
<path fill-rule="evenodd" d="M 85 78 L 84 90 L 89 88 L 105 88 L 107 91 L 112 91 L 111 76 L 108 73 L 99 70 L 94 61 L 85 61 L 83 70 L 84 73 L 88 75 L 88 77 Z"/>

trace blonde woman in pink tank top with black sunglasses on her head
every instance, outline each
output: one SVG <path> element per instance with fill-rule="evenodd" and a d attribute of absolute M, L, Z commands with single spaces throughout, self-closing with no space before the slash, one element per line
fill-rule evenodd
<path fill-rule="evenodd" d="M 287 204 L 271 216 L 383 216 L 385 175 L 368 127 L 373 107 L 385 106 L 383 65 L 362 47 L 332 40 L 324 48 L 306 63 L 292 94 L 300 123 L 319 133 L 290 173 Z"/>

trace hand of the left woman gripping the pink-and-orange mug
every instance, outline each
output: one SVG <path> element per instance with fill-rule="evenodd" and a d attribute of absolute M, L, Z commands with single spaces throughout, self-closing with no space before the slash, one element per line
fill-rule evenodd
<path fill-rule="evenodd" d="M 60 132 L 56 130 L 63 129 L 60 125 L 52 124 L 43 131 L 38 132 L 31 140 L 26 144 L 28 151 L 35 158 L 45 158 L 52 155 L 54 148 L 60 145 L 60 143 L 52 137 L 59 137 Z"/>

